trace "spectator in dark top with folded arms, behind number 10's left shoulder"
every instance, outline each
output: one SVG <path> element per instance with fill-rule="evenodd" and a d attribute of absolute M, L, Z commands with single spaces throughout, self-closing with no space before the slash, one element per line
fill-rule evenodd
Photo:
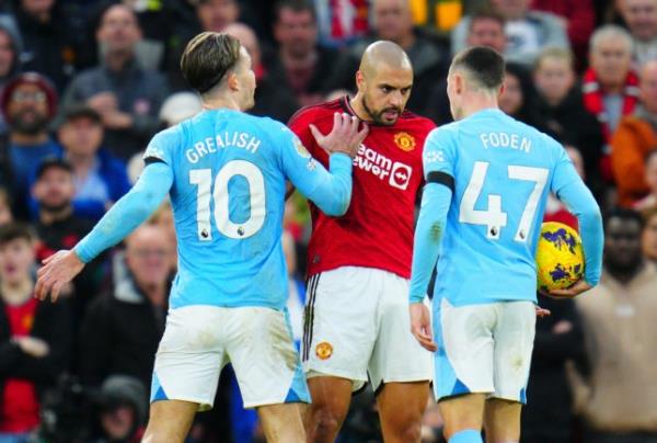
<path fill-rule="evenodd" d="M 96 33 L 104 53 L 101 66 L 77 76 L 62 100 L 64 109 L 87 103 L 101 114 L 106 146 L 123 160 L 159 129 L 158 111 L 169 89 L 160 73 L 139 66 L 135 50 L 140 38 L 132 10 L 110 7 Z"/>

